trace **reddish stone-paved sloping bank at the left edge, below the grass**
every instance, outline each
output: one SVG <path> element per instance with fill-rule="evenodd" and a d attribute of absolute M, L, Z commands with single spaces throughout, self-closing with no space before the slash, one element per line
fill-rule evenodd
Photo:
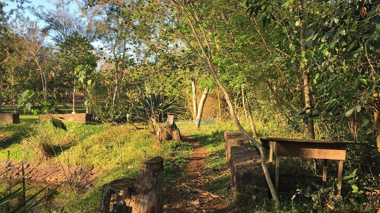
<path fill-rule="evenodd" d="M 76 182 L 76 187 L 90 188 L 98 176 L 97 169 L 79 168 L 76 166 L 71 166 L 70 169 L 65 166 L 62 169 L 59 164 L 37 165 L 24 163 L 23 166 L 24 174 L 30 172 L 25 176 L 25 180 L 49 183 L 52 185 L 67 183 L 67 176 L 70 181 L 72 180 L 73 183 Z M 4 176 L 9 180 L 16 180 L 22 177 L 21 163 L 3 160 L 0 162 L 0 174 L 3 174 L 5 171 Z"/>

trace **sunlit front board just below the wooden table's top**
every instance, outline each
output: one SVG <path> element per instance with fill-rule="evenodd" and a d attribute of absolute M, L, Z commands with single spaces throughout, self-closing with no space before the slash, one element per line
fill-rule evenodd
<path fill-rule="evenodd" d="M 296 158 L 346 159 L 345 144 L 277 141 L 276 155 Z"/>

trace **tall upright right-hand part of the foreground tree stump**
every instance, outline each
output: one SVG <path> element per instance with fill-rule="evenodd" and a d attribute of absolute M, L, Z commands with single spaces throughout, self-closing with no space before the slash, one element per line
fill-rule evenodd
<path fill-rule="evenodd" d="M 133 213 L 162 213 L 163 169 L 161 157 L 142 163 L 131 198 L 130 206 Z"/>

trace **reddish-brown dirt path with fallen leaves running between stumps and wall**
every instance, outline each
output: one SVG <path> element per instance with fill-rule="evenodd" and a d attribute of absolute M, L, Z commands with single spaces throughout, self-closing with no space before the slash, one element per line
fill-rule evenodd
<path fill-rule="evenodd" d="M 166 199 L 164 202 L 164 212 L 166 213 L 203 213 L 203 212 L 228 212 L 228 202 L 220 198 L 210 199 L 195 191 L 188 190 L 183 186 L 186 184 L 199 190 L 210 190 L 204 183 L 207 179 L 212 178 L 206 171 L 209 169 L 204 164 L 207 157 L 207 151 L 199 143 L 189 137 L 185 137 L 193 147 L 194 152 L 190 157 L 186 168 L 179 171 L 177 177 L 169 184 L 166 189 Z M 213 191 L 209 191 L 213 193 Z"/>

